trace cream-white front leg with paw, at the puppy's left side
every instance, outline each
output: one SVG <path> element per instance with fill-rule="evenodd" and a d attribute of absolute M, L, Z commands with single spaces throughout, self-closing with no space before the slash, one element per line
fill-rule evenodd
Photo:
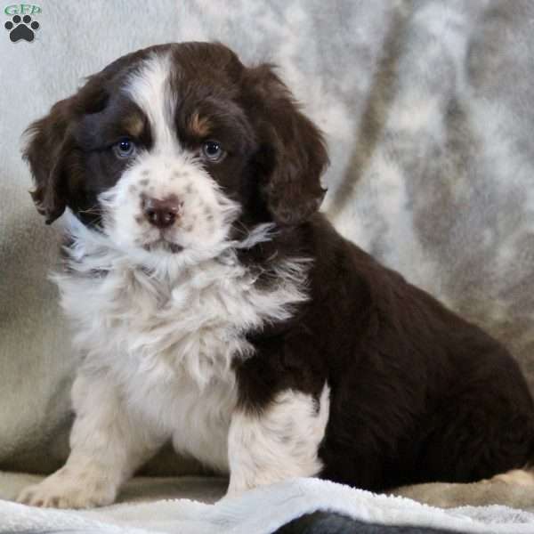
<path fill-rule="evenodd" d="M 67 464 L 22 490 L 31 506 L 87 508 L 111 504 L 121 484 L 163 444 L 150 433 L 105 377 L 78 376 L 72 388 L 76 418 Z"/>

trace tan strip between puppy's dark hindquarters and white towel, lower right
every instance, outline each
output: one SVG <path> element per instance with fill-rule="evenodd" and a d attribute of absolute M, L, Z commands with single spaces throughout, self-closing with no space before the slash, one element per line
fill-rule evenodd
<path fill-rule="evenodd" d="M 392 494 L 440 508 L 488 505 L 527 508 L 534 506 L 534 467 L 514 469 L 470 484 L 433 482 L 402 486 Z"/>

